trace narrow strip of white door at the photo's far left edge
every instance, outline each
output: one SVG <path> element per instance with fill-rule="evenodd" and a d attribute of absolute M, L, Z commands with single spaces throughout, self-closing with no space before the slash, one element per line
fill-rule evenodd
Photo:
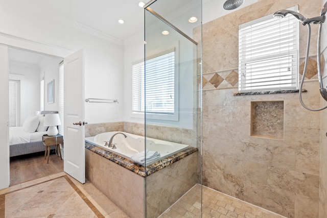
<path fill-rule="evenodd" d="M 9 139 L 8 139 L 8 46 L 0 44 L 0 189 L 9 187 Z M 6 106 L 7 105 L 7 106 Z"/>

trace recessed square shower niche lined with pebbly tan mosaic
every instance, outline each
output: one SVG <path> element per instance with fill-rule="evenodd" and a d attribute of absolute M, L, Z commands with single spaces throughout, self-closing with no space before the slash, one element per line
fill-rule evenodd
<path fill-rule="evenodd" d="M 283 139 L 283 101 L 251 102 L 251 136 Z"/>

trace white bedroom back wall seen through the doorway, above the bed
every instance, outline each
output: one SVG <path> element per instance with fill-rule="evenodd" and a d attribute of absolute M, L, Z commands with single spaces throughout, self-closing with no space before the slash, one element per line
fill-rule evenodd
<path fill-rule="evenodd" d="M 40 69 L 38 65 L 10 61 L 9 73 L 20 75 L 20 120 L 18 126 L 22 126 L 24 120 L 31 111 L 40 110 Z"/>

